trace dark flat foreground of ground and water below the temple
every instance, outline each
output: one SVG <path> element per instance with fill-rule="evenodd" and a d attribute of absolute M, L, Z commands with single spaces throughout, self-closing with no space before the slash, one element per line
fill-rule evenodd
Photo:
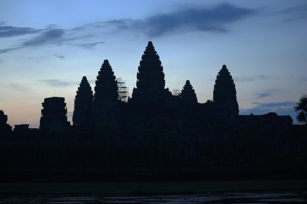
<path fill-rule="evenodd" d="M 2 182 L 2 204 L 305 204 L 307 180 Z"/>

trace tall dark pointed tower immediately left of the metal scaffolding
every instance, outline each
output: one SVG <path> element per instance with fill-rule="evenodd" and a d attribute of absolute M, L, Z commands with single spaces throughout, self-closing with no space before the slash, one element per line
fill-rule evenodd
<path fill-rule="evenodd" d="M 114 122 L 118 107 L 118 86 L 108 60 L 104 60 L 98 72 L 93 102 L 92 122 Z"/>

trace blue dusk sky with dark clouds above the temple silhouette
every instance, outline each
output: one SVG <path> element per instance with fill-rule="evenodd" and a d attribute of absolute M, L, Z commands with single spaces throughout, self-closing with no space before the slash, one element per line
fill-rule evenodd
<path fill-rule="evenodd" d="M 83 76 L 94 91 L 104 59 L 132 95 L 148 41 L 165 88 L 190 80 L 213 99 L 225 64 L 239 115 L 290 115 L 307 93 L 306 0 L 0 0 L 0 110 L 39 128 L 42 102 L 64 97 L 72 123 Z"/>

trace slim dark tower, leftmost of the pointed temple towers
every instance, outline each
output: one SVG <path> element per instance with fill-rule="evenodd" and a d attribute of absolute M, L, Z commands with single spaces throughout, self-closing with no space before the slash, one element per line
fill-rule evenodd
<path fill-rule="evenodd" d="M 86 77 L 82 77 L 75 98 L 73 124 L 78 127 L 88 127 L 91 121 L 93 91 Z"/>

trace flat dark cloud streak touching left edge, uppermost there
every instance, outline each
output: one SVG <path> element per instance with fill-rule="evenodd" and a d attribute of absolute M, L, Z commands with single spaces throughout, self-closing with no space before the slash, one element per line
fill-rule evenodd
<path fill-rule="evenodd" d="M 33 34 L 41 31 L 31 27 L 3 26 L 3 24 L 4 22 L 0 23 L 0 38 Z"/>

